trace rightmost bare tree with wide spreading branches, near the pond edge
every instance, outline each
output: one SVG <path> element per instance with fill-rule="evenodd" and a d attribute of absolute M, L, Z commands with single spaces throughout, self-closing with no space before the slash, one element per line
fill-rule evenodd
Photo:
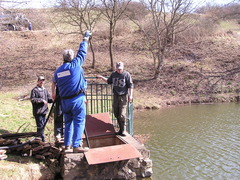
<path fill-rule="evenodd" d="M 154 78 L 158 78 L 164 64 L 166 52 L 175 42 L 175 35 L 186 30 L 192 11 L 192 0 L 142 0 L 150 15 L 129 18 L 138 25 L 143 33 L 144 42 L 154 60 Z"/>

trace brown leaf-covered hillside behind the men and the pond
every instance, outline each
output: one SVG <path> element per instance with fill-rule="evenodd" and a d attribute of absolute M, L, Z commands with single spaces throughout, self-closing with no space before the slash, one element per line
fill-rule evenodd
<path fill-rule="evenodd" d="M 216 31 L 201 40 L 174 46 L 159 79 L 152 79 L 153 60 L 149 53 L 135 47 L 139 39 L 137 32 L 123 32 L 114 40 L 115 61 L 123 61 L 134 79 L 136 108 L 235 101 L 240 89 L 239 25 L 238 29 Z M 81 40 L 76 35 L 47 30 L 0 32 L 0 91 L 17 90 L 28 95 L 39 74 L 46 76 L 50 90 L 52 75 L 62 63 L 63 50 L 77 50 Z M 96 68 L 91 68 L 89 51 L 85 76 L 108 76 L 108 40 L 95 32 L 92 41 Z M 237 69 L 233 71 L 234 68 Z"/>

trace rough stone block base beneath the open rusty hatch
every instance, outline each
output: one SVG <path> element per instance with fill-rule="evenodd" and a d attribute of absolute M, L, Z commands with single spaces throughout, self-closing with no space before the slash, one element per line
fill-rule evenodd
<path fill-rule="evenodd" d="M 84 153 L 63 153 L 61 158 L 62 178 L 68 180 L 99 180 L 150 177 L 152 175 L 150 151 L 129 134 L 126 137 L 121 137 L 121 139 L 133 145 L 141 153 L 142 157 L 89 165 Z"/>

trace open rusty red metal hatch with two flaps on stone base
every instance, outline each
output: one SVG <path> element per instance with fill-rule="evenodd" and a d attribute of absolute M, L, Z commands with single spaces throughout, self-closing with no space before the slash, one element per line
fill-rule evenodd
<path fill-rule="evenodd" d="M 109 113 L 87 115 L 86 131 L 91 149 L 84 154 L 89 165 L 142 157 L 133 145 L 124 140 L 128 136 L 115 135 Z"/>

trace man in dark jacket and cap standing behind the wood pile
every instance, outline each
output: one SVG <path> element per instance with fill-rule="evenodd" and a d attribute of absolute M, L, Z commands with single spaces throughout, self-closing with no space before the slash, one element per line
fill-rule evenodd
<path fill-rule="evenodd" d="M 37 80 L 37 86 L 31 91 L 31 102 L 33 107 L 33 116 L 36 120 L 37 135 L 45 142 L 44 137 L 44 124 L 46 122 L 46 114 L 48 113 L 48 103 L 52 103 L 53 100 L 50 97 L 47 89 L 43 87 L 45 78 L 39 76 Z"/>

